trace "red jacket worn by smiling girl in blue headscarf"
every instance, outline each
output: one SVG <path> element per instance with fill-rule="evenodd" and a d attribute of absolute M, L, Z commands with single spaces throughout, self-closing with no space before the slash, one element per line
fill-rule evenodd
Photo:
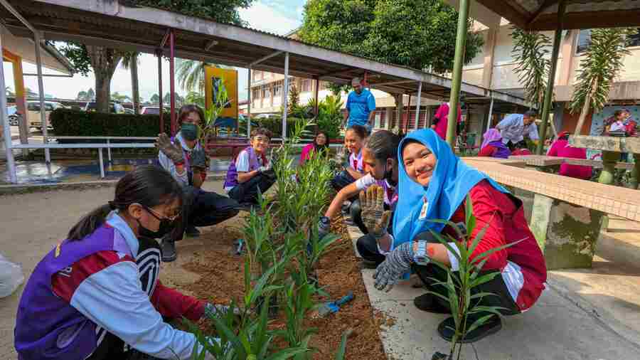
<path fill-rule="evenodd" d="M 522 240 L 509 248 L 496 251 L 489 256 L 483 270 L 503 271 L 508 262 L 521 268 L 523 284 L 518 291 L 516 304 L 524 311 L 529 309 L 545 289 L 547 267 L 538 242 L 533 237 L 521 204 L 513 202 L 511 196 L 495 189 L 488 181 L 480 181 L 469 191 L 476 216 L 476 228 L 471 233 L 475 238 L 486 224 L 489 224 L 484 237 L 471 254 L 471 258 L 491 248 Z M 464 223 L 464 202 L 459 206 L 450 221 Z M 456 236 L 456 232 L 447 226 L 444 233 Z"/>

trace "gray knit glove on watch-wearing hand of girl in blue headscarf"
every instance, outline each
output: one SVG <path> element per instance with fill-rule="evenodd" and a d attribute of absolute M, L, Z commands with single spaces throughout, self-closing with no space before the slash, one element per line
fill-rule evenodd
<path fill-rule="evenodd" d="M 400 277 L 409 272 L 413 260 L 413 241 L 403 243 L 387 255 L 385 261 L 375 269 L 374 286 L 378 290 L 389 292 Z"/>

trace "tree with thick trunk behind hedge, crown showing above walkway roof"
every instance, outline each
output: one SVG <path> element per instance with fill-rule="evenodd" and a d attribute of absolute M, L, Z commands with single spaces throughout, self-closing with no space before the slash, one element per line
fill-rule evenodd
<path fill-rule="evenodd" d="M 151 6 L 190 16 L 210 18 L 221 23 L 242 24 L 239 8 L 247 8 L 253 0 L 119 0 L 129 6 Z M 56 43 L 58 49 L 73 63 L 78 73 L 95 75 L 97 111 L 108 112 L 111 79 L 125 51 L 82 43 Z"/>

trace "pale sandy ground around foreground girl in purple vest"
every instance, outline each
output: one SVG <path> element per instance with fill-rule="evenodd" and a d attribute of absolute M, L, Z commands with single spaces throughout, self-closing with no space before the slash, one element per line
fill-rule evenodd
<path fill-rule="evenodd" d="M 224 194 L 221 182 L 207 182 L 204 187 Z M 100 188 L 0 196 L 0 253 L 20 263 L 28 278 L 38 261 L 65 238 L 71 226 L 88 211 L 111 200 L 113 191 L 113 188 Z M 240 226 L 238 221 L 230 220 L 218 226 Z M 214 228 L 203 228 L 203 232 L 214 231 Z M 163 265 L 162 272 L 172 274 L 171 279 L 163 277 L 167 285 L 183 285 L 197 279 L 196 274 L 183 270 L 181 264 L 189 260 L 198 245 L 202 243 L 197 239 L 178 243 L 178 261 Z M 10 297 L 0 299 L 0 360 L 17 358 L 14 325 L 21 293 L 22 287 Z"/>

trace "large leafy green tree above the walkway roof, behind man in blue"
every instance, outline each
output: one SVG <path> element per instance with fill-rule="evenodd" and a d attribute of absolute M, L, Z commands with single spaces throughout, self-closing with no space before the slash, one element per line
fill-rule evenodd
<path fill-rule="evenodd" d="M 457 18 L 441 0 L 309 0 L 299 35 L 337 51 L 444 73 L 453 68 Z M 469 31 L 465 63 L 481 46 L 481 36 Z"/>

